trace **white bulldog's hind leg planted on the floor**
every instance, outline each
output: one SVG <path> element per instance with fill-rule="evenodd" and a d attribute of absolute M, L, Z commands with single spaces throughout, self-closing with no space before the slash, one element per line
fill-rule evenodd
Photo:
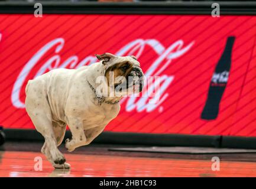
<path fill-rule="evenodd" d="M 54 135 L 51 108 L 48 96 L 45 93 L 46 85 L 44 80 L 34 80 L 29 82 L 26 87 L 25 108 L 35 129 L 44 136 L 45 144 L 41 151 L 54 167 L 63 167 L 66 159 L 57 148 L 57 141 Z"/>

